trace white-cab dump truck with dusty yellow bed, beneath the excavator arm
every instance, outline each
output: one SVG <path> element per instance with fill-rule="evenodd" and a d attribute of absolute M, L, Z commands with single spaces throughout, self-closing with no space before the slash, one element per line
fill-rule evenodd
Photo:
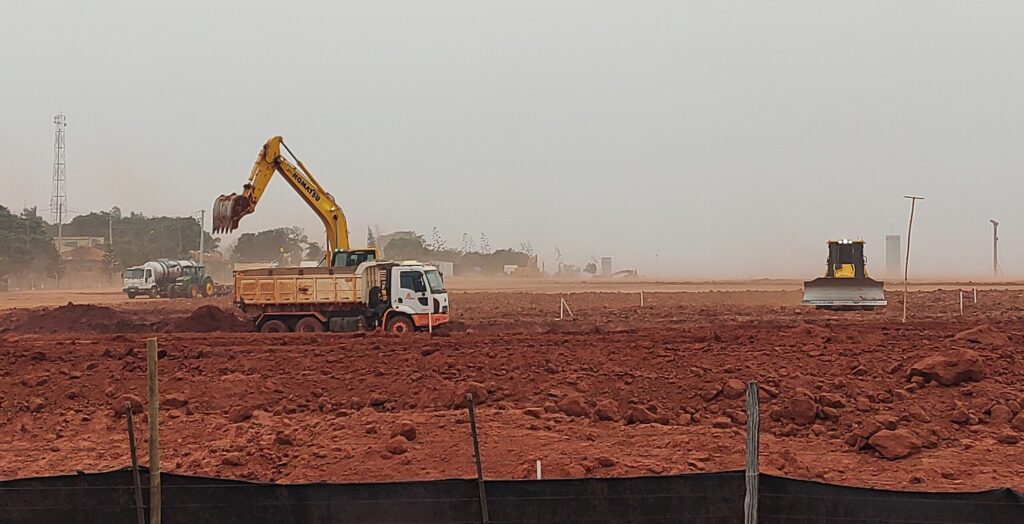
<path fill-rule="evenodd" d="M 379 329 L 400 335 L 449 321 L 440 271 L 413 261 L 236 271 L 234 304 L 260 333 Z"/>

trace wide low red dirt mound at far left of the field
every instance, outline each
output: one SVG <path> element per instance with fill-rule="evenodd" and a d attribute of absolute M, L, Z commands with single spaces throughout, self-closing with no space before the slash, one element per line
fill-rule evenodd
<path fill-rule="evenodd" d="M 148 323 L 134 319 L 116 309 L 89 304 L 74 304 L 43 310 L 30 315 L 11 328 L 16 334 L 53 333 L 138 333 L 147 331 Z"/>

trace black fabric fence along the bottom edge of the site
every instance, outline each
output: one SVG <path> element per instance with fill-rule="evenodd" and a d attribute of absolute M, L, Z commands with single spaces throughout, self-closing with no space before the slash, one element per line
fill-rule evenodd
<path fill-rule="evenodd" d="M 148 479 L 142 472 L 143 499 Z M 373 484 L 259 484 L 164 473 L 163 522 L 480 522 L 475 480 Z M 129 470 L 0 482 L 0 524 L 134 524 Z M 494 523 L 743 520 L 742 472 L 662 477 L 486 482 Z M 1011 489 L 924 493 L 761 476 L 760 522 L 1020 523 Z"/>

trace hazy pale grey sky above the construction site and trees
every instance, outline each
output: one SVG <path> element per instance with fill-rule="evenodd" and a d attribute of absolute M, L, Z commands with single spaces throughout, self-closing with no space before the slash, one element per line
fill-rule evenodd
<path fill-rule="evenodd" d="M 5 2 L 0 205 L 147 215 L 287 143 L 368 224 L 689 276 L 814 276 L 915 216 L 920 275 L 1024 275 L 1024 3 Z M 323 226 L 275 180 L 243 231 Z M 209 227 L 209 222 L 208 222 Z"/>

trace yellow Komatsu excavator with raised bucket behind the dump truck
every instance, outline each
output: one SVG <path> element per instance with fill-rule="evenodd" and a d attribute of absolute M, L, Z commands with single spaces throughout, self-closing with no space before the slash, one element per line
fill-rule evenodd
<path fill-rule="evenodd" d="M 298 167 L 282 155 L 282 147 L 295 159 Z M 259 204 L 260 196 L 263 195 L 274 173 L 280 173 L 324 222 L 328 245 L 324 262 L 327 266 L 356 267 L 362 262 L 379 258 L 377 250 L 374 249 L 349 249 L 348 221 L 345 220 L 345 212 L 280 136 L 271 137 L 263 144 L 259 156 L 256 157 L 249 181 L 243 186 L 242 194 L 233 192 L 221 194 L 214 201 L 213 232 L 230 232 L 238 229 L 242 217 L 256 211 L 256 205 Z"/>

